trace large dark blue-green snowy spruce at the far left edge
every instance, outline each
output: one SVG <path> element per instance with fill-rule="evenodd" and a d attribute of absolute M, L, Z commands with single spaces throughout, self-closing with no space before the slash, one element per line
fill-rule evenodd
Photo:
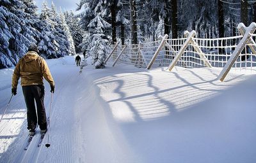
<path fill-rule="evenodd" d="M 0 5 L 0 68 L 17 64 L 26 53 L 33 38 L 29 13 L 24 12 L 23 1 L 1 1 Z"/>

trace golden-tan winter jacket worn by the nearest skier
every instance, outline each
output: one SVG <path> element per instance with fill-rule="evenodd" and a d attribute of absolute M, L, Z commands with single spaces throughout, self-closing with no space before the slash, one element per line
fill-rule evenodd
<path fill-rule="evenodd" d="M 19 78 L 21 85 L 43 85 L 43 76 L 50 85 L 54 85 L 51 72 L 45 60 L 36 52 L 29 51 L 16 65 L 12 76 L 12 88 L 17 88 Z"/>

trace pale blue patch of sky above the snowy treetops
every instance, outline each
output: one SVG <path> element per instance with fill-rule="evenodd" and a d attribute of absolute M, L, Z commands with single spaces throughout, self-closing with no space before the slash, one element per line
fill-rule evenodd
<path fill-rule="evenodd" d="M 51 6 L 52 4 L 52 1 L 53 3 L 55 4 L 56 8 L 59 10 L 60 7 L 61 7 L 61 10 L 62 11 L 66 11 L 66 10 L 73 10 L 75 11 L 76 8 L 77 8 L 77 4 L 76 3 L 79 3 L 79 0 L 47 0 L 47 3 L 48 3 L 48 6 Z M 35 0 L 36 2 L 36 5 L 38 6 L 39 10 L 41 10 L 42 8 L 42 3 L 44 1 L 42 0 Z"/>

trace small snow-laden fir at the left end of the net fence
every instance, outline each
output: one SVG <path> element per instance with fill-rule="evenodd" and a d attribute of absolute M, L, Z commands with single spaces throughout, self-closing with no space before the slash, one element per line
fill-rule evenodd
<path fill-rule="evenodd" d="M 96 69 L 105 67 L 106 55 L 109 53 L 108 37 L 103 33 L 111 25 L 106 22 L 100 15 L 97 15 L 90 24 L 89 31 L 92 34 L 92 43 L 90 44 L 89 54 L 92 55 L 93 65 Z"/>

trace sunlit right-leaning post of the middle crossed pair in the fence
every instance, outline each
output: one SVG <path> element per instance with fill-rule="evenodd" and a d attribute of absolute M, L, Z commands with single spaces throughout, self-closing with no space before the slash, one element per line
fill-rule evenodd
<path fill-rule="evenodd" d="M 177 55 L 174 57 L 171 64 L 169 65 L 169 67 L 168 67 L 169 71 L 172 71 L 173 67 L 180 59 L 180 56 L 182 55 L 182 53 L 184 53 L 184 51 L 186 50 L 186 48 L 188 47 L 189 43 L 191 42 L 191 40 L 193 39 L 193 37 L 195 35 L 196 35 L 196 31 L 194 31 L 194 30 L 188 34 L 188 38 L 186 39 L 185 43 L 181 46 L 179 52 L 177 53 Z"/>

